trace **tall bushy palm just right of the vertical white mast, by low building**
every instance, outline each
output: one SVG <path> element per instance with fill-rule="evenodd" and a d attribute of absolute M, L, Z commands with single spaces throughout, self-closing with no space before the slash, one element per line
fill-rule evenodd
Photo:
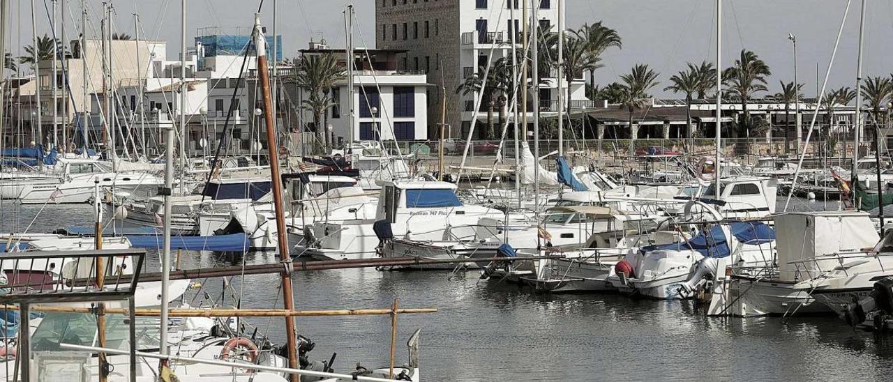
<path fill-rule="evenodd" d="M 741 104 L 738 131 L 733 131 L 733 137 L 747 136 L 753 127 L 754 123 L 750 120 L 750 113 L 747 112 L 747 101 L 753 99 L 757 92 L 768 90 L 766 76 L 771 75 L 769 65 L 747 49 L 741 50 L 739 59 L 735 60 L 734 65 L 722 71 L 722 82 L 728 87 L 728 94 Z"/>

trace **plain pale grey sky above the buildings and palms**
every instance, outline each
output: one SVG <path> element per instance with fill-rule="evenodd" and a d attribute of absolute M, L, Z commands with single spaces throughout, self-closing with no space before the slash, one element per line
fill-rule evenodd
<path fill-rule="evenodd" d="M 43 3 L 38 4 L 38 35 L 49 32 Z M 79 22 L 79 0 L 57 0 L 69 6 L 71 17 Z M 246 31 L 253 23 L 253 13 L 261 0 L 188 0 L 188 44 L 203 27 L 224 31 Z M 374 9 L 377 0 L 354 0 L 356 46 L 374 46 Z M 473 0 L 452 0 L 473 1 Z M 502 2 L 502 0 L 491 0 Z M 660 73 L 661 84 L 653 92 L 657 96 L 672 94 L 663 91 L 668 78 L 685 68 L 686 62 L 715 61 L 716 0 L 565 0 L 566 22 L 570 29 L 584 23 L 603 21 L 616 29 L 623 40 L 622 49 L 604 54 L 605 67 L 597 71 L 599 84 L 613 82 L 630 71 L 636 63 L 647 63 Z M 12 3 L 13 55 L 19 46 L 28 45 L 31 37 L 29 2 Z M 88 29 L 98 30 L 102 1 L 88 0 L 91 12 Z M 115 31 L 134 35 L 133 13 L 140 15 L 141 38 L 168 41 L 168 57 L 179 56 L 179 0 L 121 0 L 114 5 Z M 293 57 L 311 38 L 325 38 L 330 46 L 344 46 L 343 11 L 346 0 L 279 0 L 277 33 L 282 35 L 283 55 Z M 772 69 L 770 93 L 779 90 L 779 81 L 792 81 L 793 53 L 788 34 L 797 36 L 797 77 L 805 83 L 806 95 L 816 93 L 816 74 L 824 78 L 835 39 L 847 8 L 846 0 L 723 0 L 722 66 L 729 66 L 742 48 L 753 50 Z M 865 18 L 864 77 L 889 76 L 893 71 L 893 0 L 869 1 Z M 21 5 L 21 13 L 17 8 Z M 852 0 L 838 53 L 830 72 L 828 87 L 855 87 L 856 52 L 860 0 Z M 263 0 L 263 22 L 271 33 L 273 0 Z M 21 27 L 19 18 L 21 17 Z M 77 27 L 79 28 L 79 27 Z M 18 31 L 21 30 L 21 36 Z M 91 32 L 92 33 L 92 32 Z M 25 41 L 22 41 L 25 40 Z M 21 41 L 21 43 L 20 43 Z M 818 64 L 818 71 L 816 70 Z M 821 83 L 820 83 L 821 86 Z"/>

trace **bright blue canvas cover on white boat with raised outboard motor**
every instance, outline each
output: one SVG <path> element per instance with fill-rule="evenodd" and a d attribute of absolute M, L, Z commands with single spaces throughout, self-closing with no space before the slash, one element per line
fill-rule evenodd
<path fill-rule="evenodd" d="M 775 230 L 761 222 L 734 222 L 729 224 L 731 235 L 740 243 L 747 245 L 761 245 L 775 240 Z M 643 253 L 657 250 L 689 251 L 695 250 L 705 257 L 726 257 L 731 251 L 721 225 L 714 225 L 706 232 L 701 232 L 696 237 L 682 243 L 668 245 L 648 245 L 642 247 Z"/>

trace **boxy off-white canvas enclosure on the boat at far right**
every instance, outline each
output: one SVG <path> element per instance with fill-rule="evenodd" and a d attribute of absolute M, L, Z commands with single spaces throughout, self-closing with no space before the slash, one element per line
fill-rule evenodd
<path fill-rule="evenodd" d="M 839 265 L 835 257 L 798 262 L 831 253 L 853 253 L 880 241 L 867 212 L 795 212 L 775 217 L 778 266 L 782 281 L 815 277 Z"/>

